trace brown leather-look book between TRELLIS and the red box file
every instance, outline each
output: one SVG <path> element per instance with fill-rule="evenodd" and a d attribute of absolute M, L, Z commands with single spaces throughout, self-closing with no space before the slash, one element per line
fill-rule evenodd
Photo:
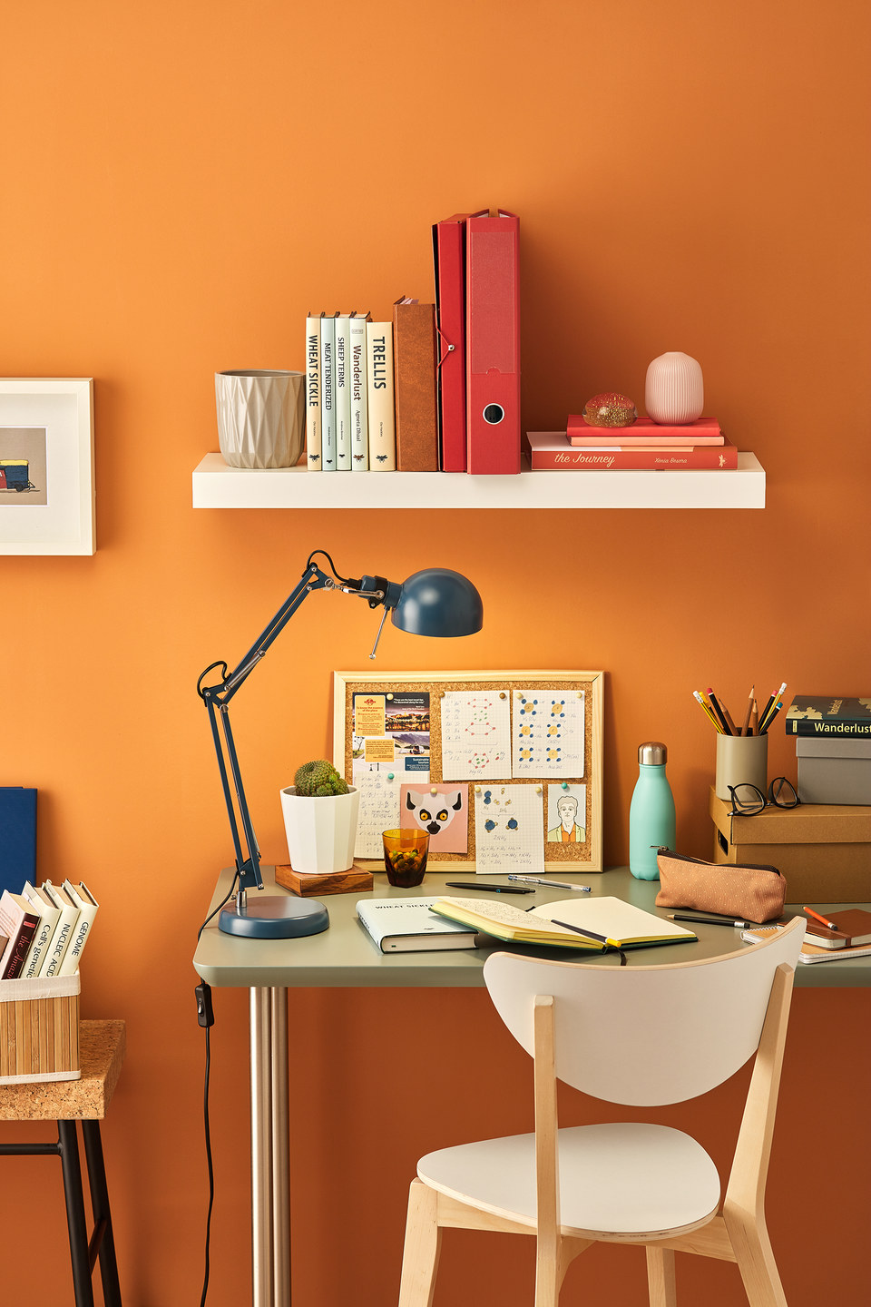
<path fill-rule="evenodd" d="M 396 465 L 400 472 L 439 471 L 439 403 L 435 305 L 393 305 L 396 369 Z"/>

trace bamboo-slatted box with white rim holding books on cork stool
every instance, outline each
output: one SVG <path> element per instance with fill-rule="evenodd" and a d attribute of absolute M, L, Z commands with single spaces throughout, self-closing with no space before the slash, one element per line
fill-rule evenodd
<path fill-rule="evenodd" d="M 80 1080 L 78 971 L 0 980 L 0 1085 Z"/>

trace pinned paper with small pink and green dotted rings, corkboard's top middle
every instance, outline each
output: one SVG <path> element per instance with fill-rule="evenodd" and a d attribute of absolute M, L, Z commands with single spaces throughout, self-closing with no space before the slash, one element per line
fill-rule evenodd
<path fill-rule="evenodd" d="M 511 718 L 499 690 L 451 690 L 441 699 L 444 780 L 509 780 Z"/>

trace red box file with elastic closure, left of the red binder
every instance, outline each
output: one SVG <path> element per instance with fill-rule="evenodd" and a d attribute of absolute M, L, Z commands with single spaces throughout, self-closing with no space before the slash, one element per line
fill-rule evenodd
<path fill-rule="evenodd" d="M 482 209 L 474 217 L 488 212 Z M 466 222 L 470 217 L 454 213 L 432 227 L 443 472 L 466 471 Z"/>

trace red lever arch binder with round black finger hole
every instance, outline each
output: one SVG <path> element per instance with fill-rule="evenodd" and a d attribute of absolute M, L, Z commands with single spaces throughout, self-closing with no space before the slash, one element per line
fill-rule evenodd
<path fill-rule="evenodd" d="M 466 222 L 466 406 L 471 473 L 520 472 L 520 220 Z"/>

